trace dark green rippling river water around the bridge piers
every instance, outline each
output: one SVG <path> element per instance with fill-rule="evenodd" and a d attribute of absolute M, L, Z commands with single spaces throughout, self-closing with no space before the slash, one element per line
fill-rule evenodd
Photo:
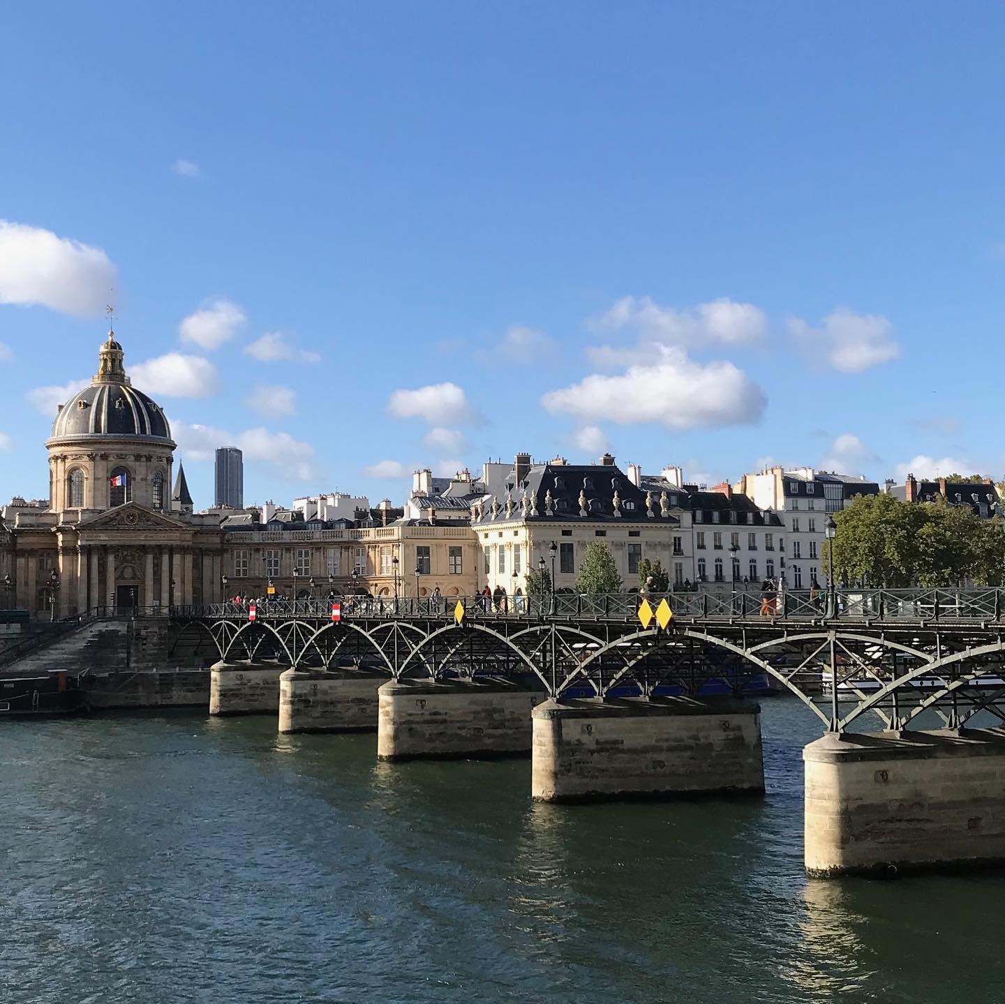
<path fill-rule="evenodd" d="M 0 728 L 2 1004 L 1005 999 L 1005 878 L 807 880 L 760 799 L 542 806 L 530 762 L 201 713 Z"/>

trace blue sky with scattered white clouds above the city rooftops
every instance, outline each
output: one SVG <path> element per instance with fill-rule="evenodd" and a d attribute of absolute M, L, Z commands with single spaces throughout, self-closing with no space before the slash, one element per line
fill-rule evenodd
<path fill-rule="evenodd" d="M 231 442 L 249 501 L 518 450 L 1005 473 L 1001 5 L 8 4 L 0 41 L 0 498 L 44 495 L 113 295 L 200 506 Z"/>

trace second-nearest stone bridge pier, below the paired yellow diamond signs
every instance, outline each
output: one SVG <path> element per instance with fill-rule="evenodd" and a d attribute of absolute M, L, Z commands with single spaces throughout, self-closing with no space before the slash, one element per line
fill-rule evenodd
<path fill-rule="evenodd" d="M 761 794 L 760 708 L 730 698 L 547 700 L 534 710 L 542 802 Z"/>

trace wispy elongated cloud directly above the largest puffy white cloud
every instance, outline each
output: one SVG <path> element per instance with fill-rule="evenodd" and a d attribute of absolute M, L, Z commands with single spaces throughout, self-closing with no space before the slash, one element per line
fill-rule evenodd
<path fill-rule="evenodd" d="M 660 307 L 649 296 L 624 296 L 593 323 L 600 331 L 631 328 L 640 342 L 671 346 L 749 345 L 767 330 L 764 313 L 753 304 L 738 304 L 728 297 L 698 304 L 693 310 Z"/>

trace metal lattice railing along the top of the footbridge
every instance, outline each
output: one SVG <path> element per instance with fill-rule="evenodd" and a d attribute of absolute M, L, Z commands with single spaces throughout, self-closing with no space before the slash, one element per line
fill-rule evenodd
<path fill-rule="evenodd" d="M 500 617 L 531 621 L 633 621 L 646 599 L 655 609 L 666 599 L 675 619 L 765 623 L 856 622 L 856 623 L 996 623 L 1002 618 L 1003 589 L 788 589 L 778 592 L 667 593 L 643 597 L 639 593 L 584 595 L 556 593 L 544 596 L 509 596 L 495 600 L 483 595 L 399 597 L 342 596 L 342 619 L 450 620 L 457 603 L 465 620 L 495 620 Z M 330 619 L 332 602 L 312 600 L 259 600 L 256 617 L 269 619 Z M 249 617 L 247 602 L 228 600 L 201 606 L 176 606 L 176 617 L 235 619 Z M 96 611 L 95 611 L 96 612 Z M 144 611 L 146 613 L 146 611 Z M 150 611 L 155 613 L 154 610 Z M 165 610 L 156 613 L 164 616 Z M 100 615 L 100 614 L 98 614 Z M 106 613 L 106 615 L 108 615 Z"/>

